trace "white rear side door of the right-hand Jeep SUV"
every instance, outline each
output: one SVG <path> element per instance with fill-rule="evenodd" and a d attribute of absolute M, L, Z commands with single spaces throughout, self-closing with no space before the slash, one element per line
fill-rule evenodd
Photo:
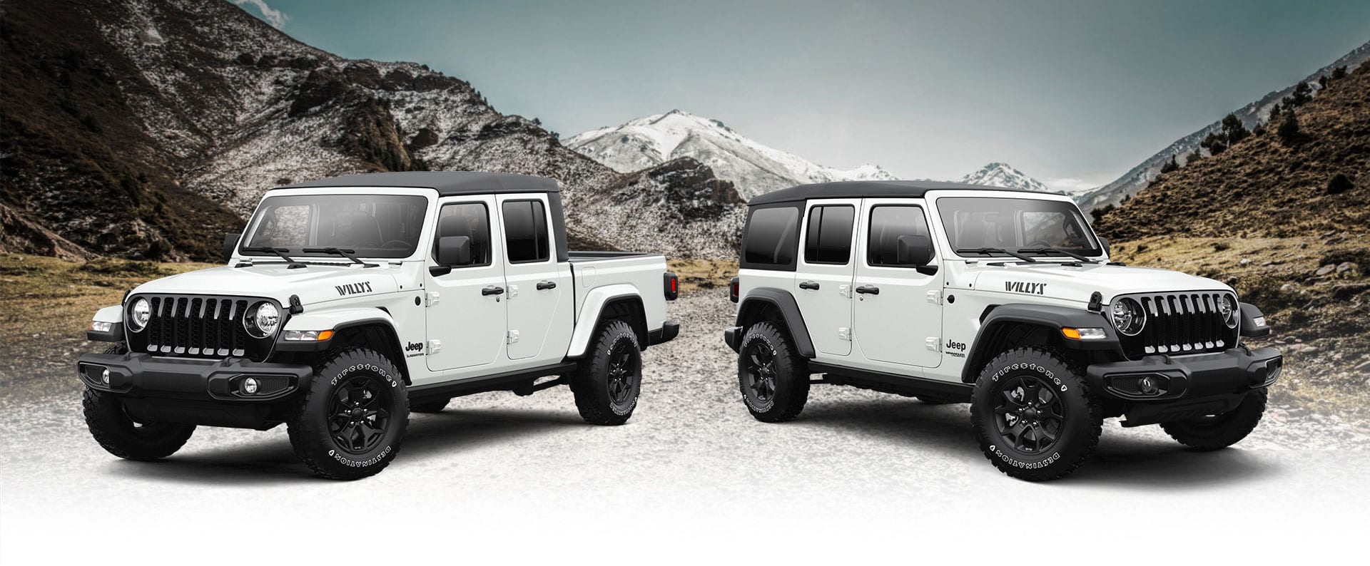
<path fill-rule="evenodd" d="M 852 298 L 855 272 L 852 245 L 860 200 L 810 201 L 804 215 L 795 302 L 819 354 L 852 351 Z"/>

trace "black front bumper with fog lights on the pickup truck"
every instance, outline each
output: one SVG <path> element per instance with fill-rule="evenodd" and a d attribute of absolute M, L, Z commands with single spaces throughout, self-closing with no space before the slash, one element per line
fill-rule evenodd
<path fill-rule="evenodd" d="M 314 369 L 242 358 L 82 354 L 77 373 L 86 387 L 118 395 L 138 421 L 270 428 L 279 421 L 281 401 L 307 387 Z M 256 380 L 255 394 L 242 388 L 249 377 Z"/>

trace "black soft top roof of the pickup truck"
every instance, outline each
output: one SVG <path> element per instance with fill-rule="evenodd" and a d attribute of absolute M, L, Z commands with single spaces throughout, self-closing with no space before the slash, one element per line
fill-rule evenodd
<path fill-rule="evenodd" d="M 303 187 L 412 187 L 433 189 L 438 196 L 492 193 L 559 193 L 555 179 L 518 174 L 478 171 L 404 171 L 330 176 L 327 179 L 286 185 L 277 189 Z"/>

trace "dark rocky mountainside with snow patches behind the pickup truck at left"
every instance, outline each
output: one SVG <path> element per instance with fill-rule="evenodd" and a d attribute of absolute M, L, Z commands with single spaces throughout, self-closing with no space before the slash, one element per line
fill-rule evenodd
<path fill-rule="evenodd" d="M 480 170 L 559 179 L 581 246 L 736 252 L 741 198 L 699 161 L 616 172 L 464 81 L 334 56 L 227 1 L 10 0 L 0 66 L 8 250 L 66 246 L 23 226 L 75 254 L 210 258 L 275 185 Z"/>

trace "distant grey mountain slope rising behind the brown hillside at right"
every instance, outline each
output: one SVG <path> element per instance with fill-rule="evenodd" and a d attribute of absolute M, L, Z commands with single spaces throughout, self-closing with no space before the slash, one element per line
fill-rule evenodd
<path fill-rule="evenodd" d="M 1354 51 L 1341 56 L 1332 64 L 1319 68 L 1317 72 L 1308 75 L 1308 78 L 1306 78 L 1304 82 L 1307 82 L 1308 86 L 1317 90 L 1319 87 L 1318 79 L 1325 75 L 1330 75 L 1334 68 L 1337 67 L 1356 68 L 1366 60 L 1370 60 L 1370 42 L 1366 42 L 1365 45 L 1355 48 Z M 1252 129 L 1258 123 L 1266 122 L 1266 119 L 1270 116 L 1270 108 L 1274 107 L 1274 104 L 1281 101 L 1284 97 L 1289 96 L 1289 93 L 1293 92 L 1295 86 L 1296 85 L 1289 85 L 1282 90 L 1266 94 L 1260 100 L 1247 104 L 1245 107 L 1241 107 L 1233 113 L 1238 119 L 1241 119 L 1245 127 Z M 1170 161 L 1171 156 L 1182 157 L 1189 154 L 1191 152 L 1199 148 L 1199 142 L 1201 142 L 1204 137 L 1207 137 L 1214 131 L 1218 131 L 1221 126 L 1222 126 L 1221 120 L 1214 122 L 1200 129 L 1199 131 L 1195 131 L 1193 134 L 1175 139 L 1173 144 L 1166 146 L 1166 149 L 1156 152 L 1156 154 L 1148 157 L 1137 167 L 1133 167 L 1126 174 L 1119 176 L 1117 180 L 1104 185 L 1099 189 L 1095 189 L 1086 194 L 1082 194 L 1077 197 L 1075 201 L 1080 202 L 1080 206 L 1084 208 L 1086 212 L 1100 206 L 1118 205 L 1119 202 L 1123 201 L 1123 198 L 1137 194 L 1137 191 L 1145 189 L 1147 185 L 1149 185 L 1156 178 L 1156 175 L 1160 175 L 1160 168 L 1167 161 Z"/>

